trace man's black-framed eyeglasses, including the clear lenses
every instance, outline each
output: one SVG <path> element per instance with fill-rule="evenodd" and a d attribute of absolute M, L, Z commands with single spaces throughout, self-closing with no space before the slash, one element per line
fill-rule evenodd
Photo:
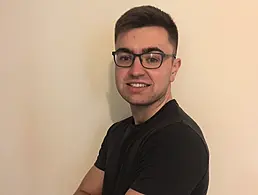
<path fill-rule="evenodd" d="M 127 68 L 133 65 L 135 58 L 139 57 L 141 65 L 146 69 L 157 69 L 163 63 L 163 60 L 168 57 L 176 58 L 175 54 L 165 54 L 157 51 L 135 54 L 125 51 L 113 51 L 115 64 L 118 67 Z"/>

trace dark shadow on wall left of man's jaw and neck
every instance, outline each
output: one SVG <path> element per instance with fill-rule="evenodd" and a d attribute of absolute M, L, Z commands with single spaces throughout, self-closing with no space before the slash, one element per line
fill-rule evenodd
<path fill-rule="evenodd" d="M 129 104 L 120 96 L 115 84 L 115 64 L 109 63 L 109 90 L 106 93 L 112 122 L 120 121 L 131 115 Z"/>

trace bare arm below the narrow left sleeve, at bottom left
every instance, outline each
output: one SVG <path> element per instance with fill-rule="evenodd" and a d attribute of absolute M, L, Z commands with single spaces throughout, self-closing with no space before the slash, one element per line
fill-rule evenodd
<path fill-rule="evenodd" d="M 83 178 L 79 188 L 74 195 L 80 195 L 82 192 L 90 195 L 101 195 L 104 179 L 104 171 L 93 166 Z"/>

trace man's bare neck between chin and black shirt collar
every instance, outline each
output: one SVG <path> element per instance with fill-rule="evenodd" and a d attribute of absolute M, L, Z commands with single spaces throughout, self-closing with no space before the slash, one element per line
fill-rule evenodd
<path fill-rule="evenodd" d="M 158 101 L 146 105 L 138 106 L 131 105 L 132 115 L 135 121 L 135 124 L 144 123 L 153 115 L 155 115 L 168 101 L 172 100 L 171 94 L 166 95 L 165 97 L 159 99 Z"/>

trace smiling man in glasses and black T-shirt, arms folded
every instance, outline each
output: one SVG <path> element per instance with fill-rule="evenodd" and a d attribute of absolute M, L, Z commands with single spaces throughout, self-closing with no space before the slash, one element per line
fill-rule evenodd
<path fill-rule="evenodd" d="M 158 8 L 140 6 L 115 26 L 116 86 L 132 117 L 113 124 L 75 195 L 205 195 L 209 151 L 171 95 L 181 60 L 178 31 Z"/>

